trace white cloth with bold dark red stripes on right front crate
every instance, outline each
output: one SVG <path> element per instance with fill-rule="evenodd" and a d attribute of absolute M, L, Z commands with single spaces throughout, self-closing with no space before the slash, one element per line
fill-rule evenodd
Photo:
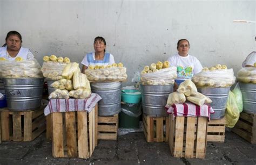
<path fill-rule="evenodd" d="M 173 113 L 173 117 L 176 116 L 192 116 L 192 117 L 207 117 L 210 119 L 211 113 L 214 113 L 214 110 L 210 105 L 196 105 L 193 103 L 183 103 L 183 104 L 172 104 L 166 105 L 165 109 L 167 113 Z"/>

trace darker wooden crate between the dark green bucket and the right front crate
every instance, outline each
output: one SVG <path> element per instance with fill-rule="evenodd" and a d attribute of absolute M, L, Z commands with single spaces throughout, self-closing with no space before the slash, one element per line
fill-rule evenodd
<path fill-rule="evenodd" d="M 166 126 L 166 131 L 164 131 Z M 147 142 L 169 140 L 169 117 L 149 117 L 143 114 L 143 131 Z"/>

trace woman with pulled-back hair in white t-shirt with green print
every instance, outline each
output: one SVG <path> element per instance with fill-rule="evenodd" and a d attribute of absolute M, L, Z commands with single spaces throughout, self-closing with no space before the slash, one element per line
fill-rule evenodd
<path fill-rule="evenodd" d="M 194 74 L 199 73 L 203 69 L 200 61 L 196 57 L 188 54 L 189 49 L 190 42 L 187 39 L 180 39 L 177 43 L 178 53 L 168 59 L 170 66 L 177 67 L 178 77 L 175 82 L 178 85 L 186 79 L 191 79 Z M 177 87 L 177 84 L 174 84 L 174 86 Z"/>

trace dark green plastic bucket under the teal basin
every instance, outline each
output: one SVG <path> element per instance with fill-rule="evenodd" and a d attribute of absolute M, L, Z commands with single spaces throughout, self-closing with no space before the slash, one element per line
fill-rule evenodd
<path fill-rule="evenodd" d="M 141 114 L 141 103 L 122 103 L 121 112 L 119 113 L 119 128 L 138 128 Z"/>

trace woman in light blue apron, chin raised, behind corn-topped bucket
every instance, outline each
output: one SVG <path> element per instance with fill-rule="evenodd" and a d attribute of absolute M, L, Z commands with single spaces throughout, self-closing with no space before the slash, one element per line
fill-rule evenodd
<path fill-rule="evenodd" d="M 106 53 L 106 41 L 103 37 L 96 37 L 94 40 L 95 52 L 87 53 L 81 62 L 83 64 L 82 73 L 89 65 L 105 66 L 114 63 L 114 57 L 110 53 Z"/>

